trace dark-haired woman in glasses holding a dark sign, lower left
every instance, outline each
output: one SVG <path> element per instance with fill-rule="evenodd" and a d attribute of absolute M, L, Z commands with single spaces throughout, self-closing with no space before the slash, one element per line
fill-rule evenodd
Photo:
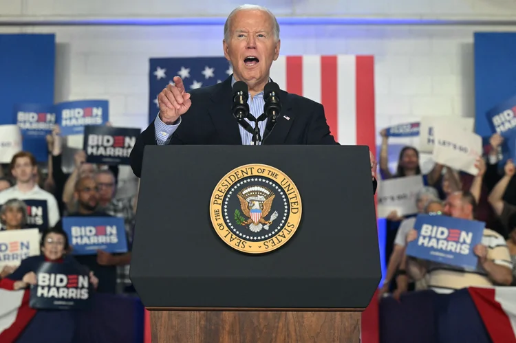
<path fill-rule="evenodd" d="M 51 228 L 45 231 L 41 237 L 41 252 L 39 256 L 30 256 L 21 261 L 21 265 L 10 275 L 0 280 L 0 288 L 18 290 L 36 285 L 36 272 L 43 262 L 72 263 L 78 268 L 86 269 L 80 265 L 73 256 L 67 255 L 69 243 L 66 232 L 62 229 Z M 89 272 L 89 282 L 94 288 L 98 286 L 98 278 L 93 272 Z"/>

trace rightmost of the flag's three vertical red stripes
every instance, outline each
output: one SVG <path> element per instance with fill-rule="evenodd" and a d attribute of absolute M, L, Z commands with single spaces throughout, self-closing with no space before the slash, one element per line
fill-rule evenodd
<path fill-rule="evenodd" d="M 356 145 L 376 151 L 374 125 L 374 58 L 356 56 Z"/>

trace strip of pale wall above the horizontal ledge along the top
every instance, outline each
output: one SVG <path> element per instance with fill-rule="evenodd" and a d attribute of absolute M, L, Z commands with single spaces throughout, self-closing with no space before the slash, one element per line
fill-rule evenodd
<path fill-rule="evenodd" d="M 279 16 L 506 18 L 513 0 L 261 0 Z M 225 16 L 242 1 L 0 0 L 1 14 L 26 16 Z"/>

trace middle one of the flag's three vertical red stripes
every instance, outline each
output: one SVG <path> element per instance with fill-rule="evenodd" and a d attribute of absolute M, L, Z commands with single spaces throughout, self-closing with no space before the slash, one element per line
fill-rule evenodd
<path fill-rule="evenodd" d="M 337 56 L 321 56 L 321 102 L 330 132 L 338 142 Z"/>

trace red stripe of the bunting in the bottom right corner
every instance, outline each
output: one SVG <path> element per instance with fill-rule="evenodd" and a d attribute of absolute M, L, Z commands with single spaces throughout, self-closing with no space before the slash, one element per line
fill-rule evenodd
<path fill-rule="evenodd" d="M 468 291 L 493 343 L 516 342 L 513 326 L 502 305 L 495 300 L 495 289 L 469 287 Z"/>

